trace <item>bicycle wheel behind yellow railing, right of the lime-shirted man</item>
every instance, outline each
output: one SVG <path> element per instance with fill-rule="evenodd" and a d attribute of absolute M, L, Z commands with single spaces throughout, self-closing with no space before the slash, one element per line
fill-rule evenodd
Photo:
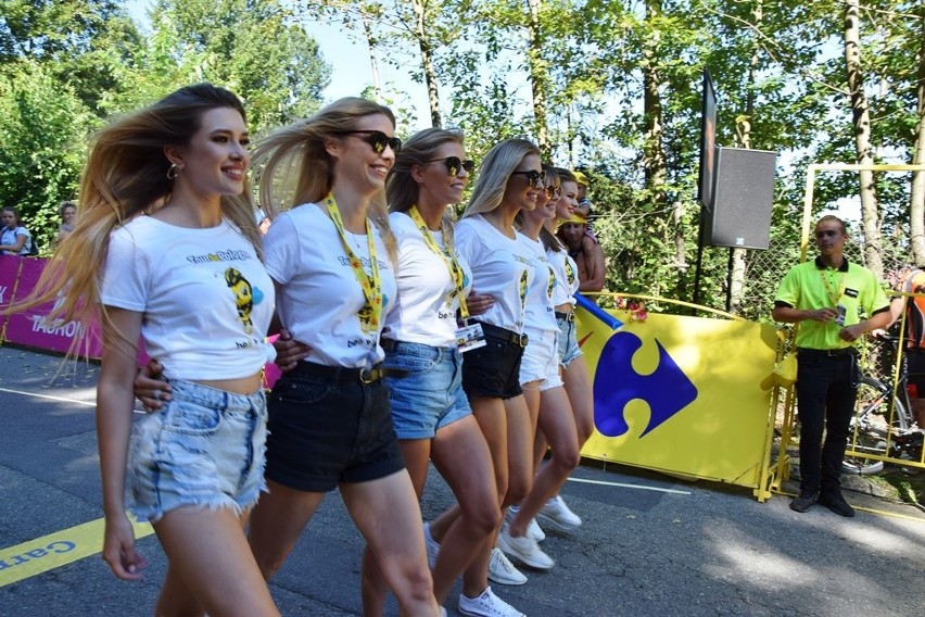
<path fill-rule="evenodd" d="M 862 476 L 883 471 L 884 462 L 865 454 L 887 455 L 888 444 L 891 446 L 904 428 L 905 407 L 894 395 L 892 388 L 873 377 L 862 377 L 858 385 L 858 402 L 851 419 L 848 450 L 841 464 L 844 470 Z"/>

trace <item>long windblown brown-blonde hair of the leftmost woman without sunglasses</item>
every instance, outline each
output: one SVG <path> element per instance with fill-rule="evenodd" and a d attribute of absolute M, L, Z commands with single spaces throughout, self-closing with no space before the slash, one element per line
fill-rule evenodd
<path fill-rule="evenodd" d="M 167 177 L 170 161 L 164 148 L 188 146 L 200 129 L 202 115 L 220 108 L 231 108 L 246 118 L 244 106 L 232 92 L 198 84 L 180 88 L 101 129 L 91 141 L 80 180 L 74 231 L 62 240 L 46 264 L 35 290 L 8 312 L 27 311 L 56 300 L 48 318 L 101 318 L 106 331 L 105 326 L 111 323 L 100 304 L 100 284 L 110 234 L 145 210 L 169 201 L 173 180 Z M 221 210 L 262 256 L 261 236 L 249 194 L 245 187 L 242 197 L 223 197 Z M 78 344 L 75 339 L 72 352 Z"/>

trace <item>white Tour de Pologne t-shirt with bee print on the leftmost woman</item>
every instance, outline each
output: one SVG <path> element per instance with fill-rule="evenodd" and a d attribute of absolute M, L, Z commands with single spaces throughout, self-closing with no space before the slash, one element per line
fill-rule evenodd
<path fill-rule="evenodd" d="M 239 379 L 276 357 L 274 287 L 231 223 L 193 229 L 139 216 L 110 236 L 102 303 L 144 313 L 148 355 L 174 379 Z"/>

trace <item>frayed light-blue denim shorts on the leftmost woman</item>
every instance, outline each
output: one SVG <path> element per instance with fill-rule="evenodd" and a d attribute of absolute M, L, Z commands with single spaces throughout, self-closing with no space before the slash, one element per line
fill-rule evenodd
<path fill-rule="evenodd" d="M 180 506 L 240 514 L 254 505 L 266 489 L 263 390 L 236 394 L 178 380 L 170 388 L 173 399 L 132 426 L 131 511 L 157 522 Z"/>

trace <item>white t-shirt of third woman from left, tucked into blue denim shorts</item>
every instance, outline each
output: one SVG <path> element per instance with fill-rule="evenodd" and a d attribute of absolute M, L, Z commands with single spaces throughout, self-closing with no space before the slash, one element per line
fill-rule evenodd
<path fill-rule="evenodd" d="M 420 229 L 407 214 L 393 212 L 389 215 L 389 224 L 398 242 L 398 302 L 389 313 L 382 336 L 432 347 L 455 347 L 459 298 L 454 294 L 451 300 L 456 284 L 446 261 L 427 245 Z M 446 253 L 443 234 L 428 232 Z M 468 294 L 472 288 L 471 270 L 458 251 L 456 260 L 465 275 L 463 293 Z"/>

